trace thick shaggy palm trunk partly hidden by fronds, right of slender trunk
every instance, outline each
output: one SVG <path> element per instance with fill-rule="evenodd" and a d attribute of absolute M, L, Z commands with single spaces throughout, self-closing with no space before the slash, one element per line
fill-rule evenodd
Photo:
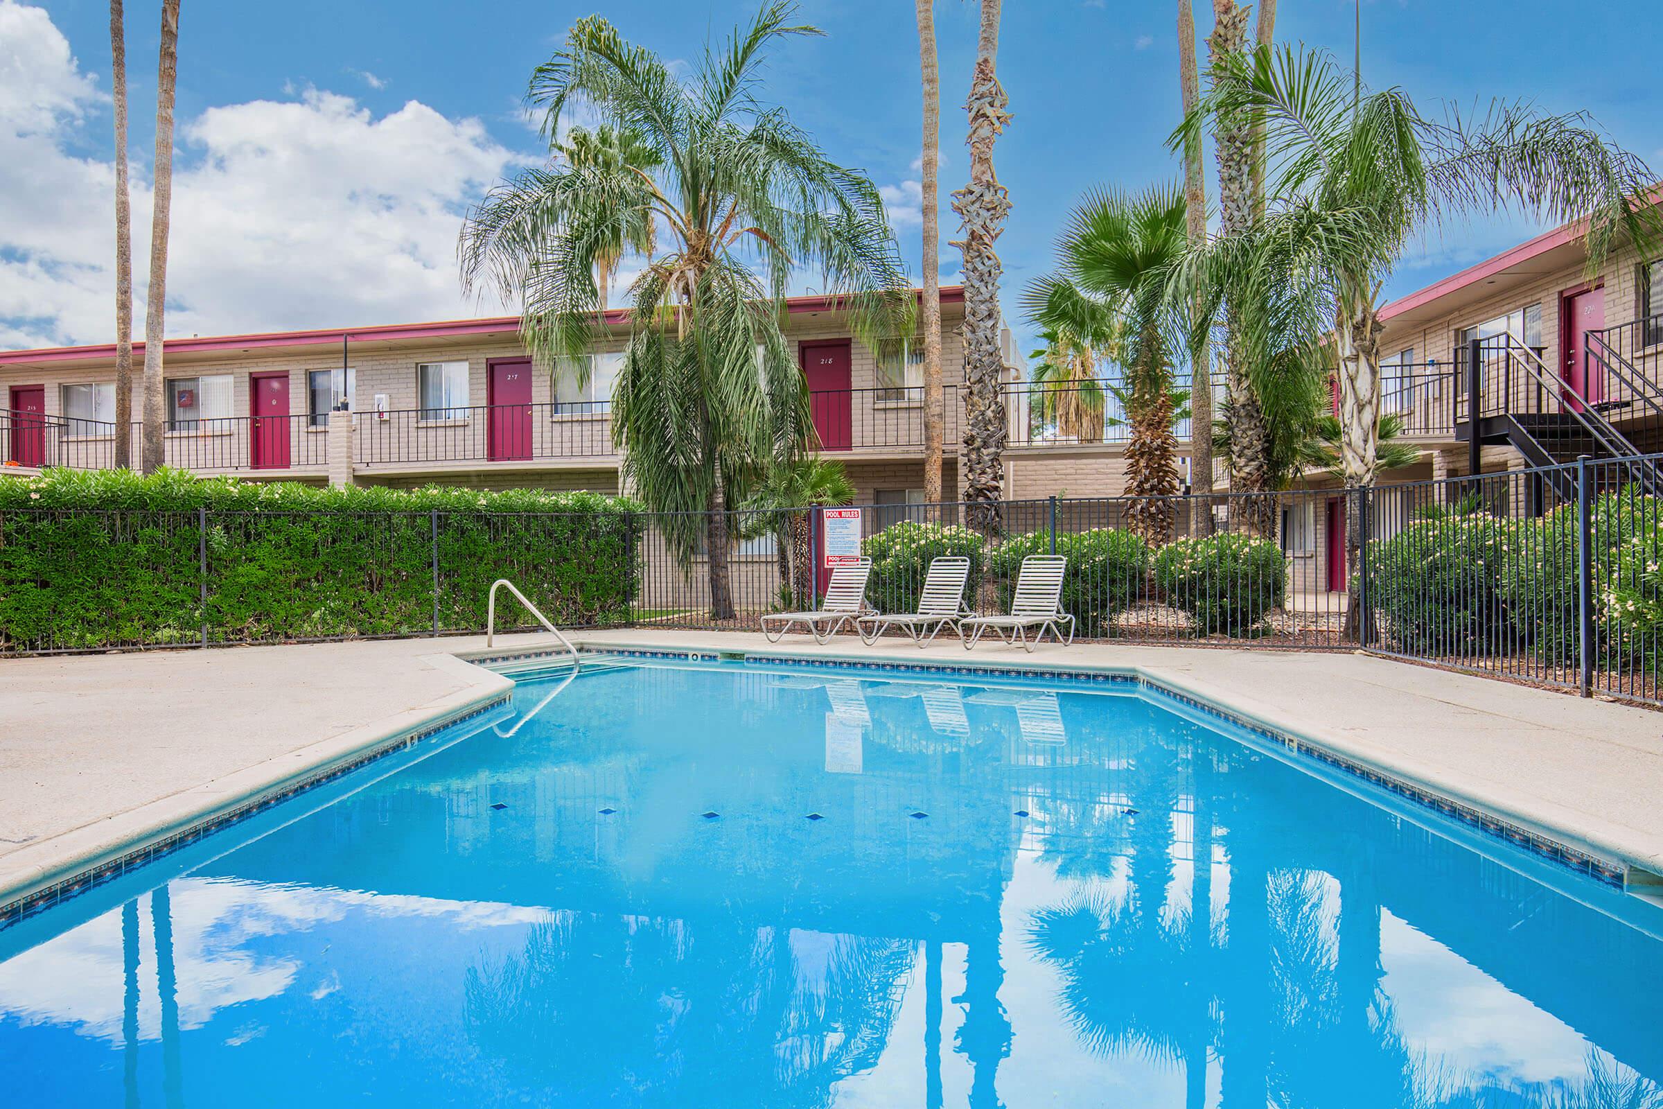
<path fill-rule="evenodd" d="M 1234 0 L 1212 0 L 1214 27 L 1207 37 L 1214 63 L 1237 53 L 1247 40 L 1247 8 Z M 1219 116 L 1214 141 L 1219 161 L 1219 231 L 1236 234 L 1252 223 L 1252 123 Z M 1237 497 L 1241 525 L 1262 539 L 1276 535 L 1276 497 L 1271 490 L 1269 437 L 1264 411 L 1247 372 L 1247 351 L 1236 309 L 1226 304 L 1226 387 L 1231 397 L 1231 492 L 1266 494 Z"/>

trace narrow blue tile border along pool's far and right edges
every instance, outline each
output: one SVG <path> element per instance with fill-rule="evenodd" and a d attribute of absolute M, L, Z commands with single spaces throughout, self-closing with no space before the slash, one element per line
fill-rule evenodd
<path fill-rule="evenodd" d="M 1071 670 L 1066 667 L 956 667 L 953 663 L 938 662 L 878 662 L 873 658 L 838 658 L 838 657 L 810 657 L 810 655 L 790 655 L 790 653 L 770 653 L 770 652 L 713 652 L 713 650 L 660 650 L 660 648 L 580 648 L 585 653 L 595 655 L 617 655 L 625 658 L 662 658 L 675 662 L 720 662 L 723 657 L 742 655 L 745 662 L 760 663 L 785 663 L 800 667 L 823 667 L 836 670 L 880 670 L 880 672 L 905 672 L 905 673 L 951 673 L 963 677 L 1001 677 L 1001 678 L 1061 678 L 1073 682 L 1091 682 L 1091 683 L 1118 683 L 1131 685 L 1137 688 L 1152 690 L 1162 697 L 1169 697 L 1181 705 L 1201 712 L 1204 715 L 1222 720 L 1229 725 L 1242 728 L 1251 735 L 1259 737 L 1269 743 L 1276 743 L 1297 757 L 1310 758 L 1314 762 L 1332 766 L 1342 773 L 1354 778 L 1360 778 L 1369 785 L 1374 785 L 1387 793 L 1392 793 L 1405 801 L 1410 801 L 1420 808 L 1427 808 L 1434 813 L 1455 820 L 1467 825 L 1493 840 L 1500 840 L 1513 848 L 1528 851 L 1530 855 L 1555 863 L 1585 878 L 1591 878 L 1606 886 L 1615 886 L 1618 890 L 1626 888 L 1628 870 L 1621 863 L 1613 860 L 1600 858 L 1590 855 L 1582 848 L 1575 848 L 1568 843 L 1545 836 L 1540 831 L 1525 828 L 1510 820 L 1488 813 L 1485 810 L 1467 805 L 1465 801 L 1457 801 L 1445 796 L 1435 790 L 1429 790 L 1417 785 L 1407 778 L 1385 773 L 1375 766 L 1347 758 L 1337 752 L 1322 747 L 1320 743 L 1312 743 L 1289 732 L 1277 728 L 1267 728 L 1257 720 L 1236 712 L 1229 707 L 1219 705 L 1207 698 L 1197 697 L 1184 688 L 1167 685 L 1166 682 L 1156 682 L 1142 673 L 1134 673 L 1129 670 L 1113 672 L 1113 670 Z"/>

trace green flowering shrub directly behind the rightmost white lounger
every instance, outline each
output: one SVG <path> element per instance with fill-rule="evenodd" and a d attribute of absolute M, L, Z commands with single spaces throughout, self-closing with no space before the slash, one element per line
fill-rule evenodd
<path fill-rule="evenodd" d="M 1013 535 L 988 557 L 999 579 L 999 605 L 1006 610 L 1023 559 L 1051 552 L 1049 532 Z M 1131 532 L 1098 527 L 1059 532 L 1056 554 L 1068 557 L 1063 575 L 1063 610 L 1074 617 L 1076 635 L 1109 635 L 1114 617 L 1142 595 L 1149 577 L 1149 545 Z"/>

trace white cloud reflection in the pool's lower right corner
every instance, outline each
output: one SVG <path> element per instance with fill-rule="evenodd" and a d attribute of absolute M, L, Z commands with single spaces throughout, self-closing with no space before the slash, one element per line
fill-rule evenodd
<path fill-rule="evenodd" d="M 1580 1079 L 1588 1042 L 1405 921 L 1380 911 L 1382 989 L 1404 1039 L 1468 1074 Z"/>

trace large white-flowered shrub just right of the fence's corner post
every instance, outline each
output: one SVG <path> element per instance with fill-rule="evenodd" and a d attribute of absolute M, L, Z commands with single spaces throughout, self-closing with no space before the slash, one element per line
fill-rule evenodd
<path fill-rule="evenodd" d="M 1412 653 L 1488 653 L 1507 622 L 1497 589 L 1507 535 L 1503 520 L 1465 512 L 1372 540 L 1369 600 L 1385 642 Z"/>

